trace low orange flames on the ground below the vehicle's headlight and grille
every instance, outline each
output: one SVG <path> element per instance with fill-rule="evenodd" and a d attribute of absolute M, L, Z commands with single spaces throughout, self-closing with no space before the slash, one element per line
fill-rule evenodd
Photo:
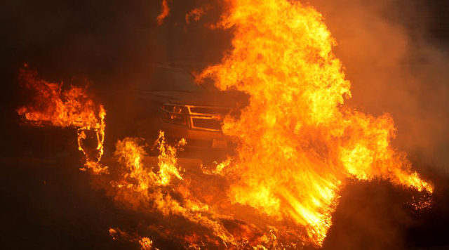
<path fill-rule="evenodd" d="M 182 216 L 192 223 L 197 223 L 212 230 L 213 234 L 225 242 L 233 242 L 232 235 L 217 222 L 215 213 L 210 206 L 194 198 L 183 179 L 177 166 L 176 152 L 185 145 L 180 140 L 177 145 L 167 145 L 164 133 L 159 132 L 159 171 L 151 166 L 144 166 L 147 157 L 142 145 L 136 138 L 125 138 L 116 143 L 115 157 L 125 167 L 121 171 L 120 181 L 112 181 L 116 187 L 115 199 L 130 204 L 134 209 L 143 207 L 155 209 L 163 216 Z M 173 180 L 179 180 L 177 184 Z M 173 198 L 173 194 L 181 197 L 182 201 Z"/>

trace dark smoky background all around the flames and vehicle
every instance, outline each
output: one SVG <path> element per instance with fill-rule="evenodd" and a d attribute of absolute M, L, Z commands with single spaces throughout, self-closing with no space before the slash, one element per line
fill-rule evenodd
<path fill-rule="evenodd" d="M 195 70 L 220 62 L 229 31 L 216 22 L 221 4 L 169 1 L 1 1 L 0 244 L 5 249 L 133 249 L 107 228 L 138 219 L 116 208 L 81 164 L 71 129 L 18 126 L 18 70 L 27 62 L 48 81 L 87 77 L 105 104 L 107 140 L 120 137 L 130 88 L 154 61 L 188 62 Z M 187 25 L 185 14 L 213 8 Z M 342 191 L 324 249 L 449 248 L 449 3 L 443 0 L 310 1 L 338 42 L 352 82 L 348 105 L 389 112 L 394 146 L 408 152 L 436 185 L 432 209 L 417 213 L 413 192 L 387 182 L 352 183 Z M 114 133 L 115 131 L 115 133 Z M 109 136 L 109 137 L 108 137 Z M 61 145 L 64 148 L 61 149 Z M 67 159 L 70 159 L 67 161 Z M 156 242 L 164 249 L 163 242 Z M 156 246 L 158 246 L 156 244 Z"/>

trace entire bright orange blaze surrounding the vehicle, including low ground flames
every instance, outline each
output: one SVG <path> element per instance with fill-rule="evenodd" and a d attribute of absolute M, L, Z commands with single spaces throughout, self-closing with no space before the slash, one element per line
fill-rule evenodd
<path fill-rule="evenodd" d="M 288 0 L 225 3 L 227 13 L 215 27 L 232 28 L 233 49 L 198 79 L 210 77 L 222 90 L 235 88 L 250 96 L 241 116 L 227 117 L 223 124 L 237 144 L 236 155 L 216 169 L 189 172 L 176 157 L 185 140 L 168 145 L 161 132 L 158 161 L 147 162 L 143 141 L 124 138 L 116 143 L 118 166 L 98 176 L 107 180 L 105 189 L 116 202 L 196 225 L 199 232 L 185 232 L 160 221 L 163 234 L 186 248 L 300 249 L 321 246 L 347 180 L 384 178 L 432 192 L 405 154 L 391 147 L 395 129 L 388 114 L 376 118 L 344 106 L 350 83 L 332 53 L 336 43 L 320 13 Z M 39 80 L 31 70 L 22 70 L 20 80 L 35 95 L 18 113 L 37 126 L 77 128 L 86 167 L 107 173 L 100 164 L 102 105 L 95 105 L 85 88 L 62 91 L 60 84 Z M 83 147 L 86 131 L 97 135 L 95 159 Z M 208 178 L 216 180 L 216 187 L 203 181 Z M 154 247 L 134 232 L 109 232 L 114 239 L 132 238 L 142 249 Z"/>

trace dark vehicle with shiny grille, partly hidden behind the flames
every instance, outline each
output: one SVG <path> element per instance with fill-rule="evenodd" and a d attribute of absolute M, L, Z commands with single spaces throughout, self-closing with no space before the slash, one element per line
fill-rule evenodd
<path fill-rule="evenodd" d="M 235 145 L 222 132 L 227 115 L 236 116 L 248 103 L 238 91 L 219 91 L 213 83 L 196 83 L 182 65 L 157 62 L 135 84 L 129 133 L 156 140 L 164 131 L 170 142 L 185 138 L 185 152 L 210 162 L 231 154 Z"/>

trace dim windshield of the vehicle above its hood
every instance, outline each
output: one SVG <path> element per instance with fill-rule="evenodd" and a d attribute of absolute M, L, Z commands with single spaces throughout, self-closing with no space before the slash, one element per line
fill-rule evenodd
<path fill-rule="evenodd" d="M 154 70 L 151 77 L 142 82 L 139 88 L 142 91 L 206 92 L 203 86 L 194 82 L 190 74 L 163 68 Z"/>

